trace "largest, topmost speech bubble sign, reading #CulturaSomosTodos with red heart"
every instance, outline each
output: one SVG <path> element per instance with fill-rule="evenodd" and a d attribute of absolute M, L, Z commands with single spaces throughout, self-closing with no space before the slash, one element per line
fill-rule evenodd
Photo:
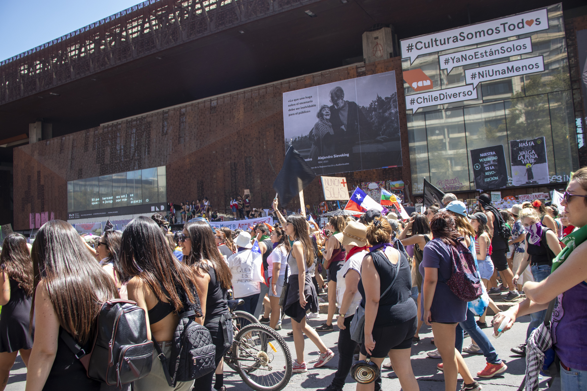
<path fill-rule="evenodd" d="M 546 8 L 400 40 L 402 59 L 548 29 Z"/>

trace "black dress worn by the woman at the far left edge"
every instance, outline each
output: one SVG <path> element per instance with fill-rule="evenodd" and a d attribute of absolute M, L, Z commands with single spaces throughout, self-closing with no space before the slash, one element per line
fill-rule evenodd
<path fill-rule="evenodd" d="M 10 300 L 2 305 L 0 314 L 0 352 L 16 352 L 19 349 L 31 349 L 33 337 L 29 335 L 29 314 L 32 298 L 18 286 L 15 280 L 10 281 Z M 35 332 L 33 325 L 32 334 Z"/>

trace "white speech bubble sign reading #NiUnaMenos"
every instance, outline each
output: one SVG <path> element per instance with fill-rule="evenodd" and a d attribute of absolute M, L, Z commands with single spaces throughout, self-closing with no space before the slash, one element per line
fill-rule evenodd
<path fill-rule="evenodd" d="M 544 71 L 544 56 L 491 64 L 478 68 L 465 69 L 465 83 L 477 87 L 480 81 L 503 79 L 504 77 Z"/>

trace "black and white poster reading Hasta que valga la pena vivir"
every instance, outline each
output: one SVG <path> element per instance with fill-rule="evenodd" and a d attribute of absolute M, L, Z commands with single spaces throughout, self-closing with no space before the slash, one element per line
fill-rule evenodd
<path fill-rule="evenodd" d="M 514 186 L 549 183 L 544 137 L 510 141 Z"/>

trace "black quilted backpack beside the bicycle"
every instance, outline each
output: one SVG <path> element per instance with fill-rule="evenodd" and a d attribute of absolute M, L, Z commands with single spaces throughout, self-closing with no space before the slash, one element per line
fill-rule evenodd
<path fill-rule="evenodd" d="M 180 322 L 173 334 L 169 358 L 161 352 L 153 338 L 170 387 L 175 387 L 177 382 L 201 378 L 216 369 L 216 346 L 212 343 L 210 331 L 196 323 L 194 315 L 195 311 L 179 314 Z"/>

